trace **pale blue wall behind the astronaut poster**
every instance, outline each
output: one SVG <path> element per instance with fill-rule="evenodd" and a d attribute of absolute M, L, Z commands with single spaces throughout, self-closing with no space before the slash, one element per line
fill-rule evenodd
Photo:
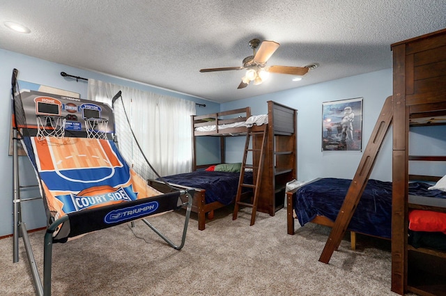
<path fill-rule="evenodd" d="M 318 70 L 323 70 L 318 69 Z M 317 70 L 317 71 L 318 71 Z M 317 73 L 314 72 L 314 75 Z M 249 86 L 251 87 L 251 86 Z M 255 86 L 252 86 L 255 87 Z M 252 114 L 266 114 L 268 100 L 298 110 L 298 180 L 319 177 L 353 178 L 362 157 L 358 151 L 321 151 L 322 103 L 363 98 L 362 147 L 365 148 L 385 99 L 392 95 L 392 69 L 293 88 L 269 95 L 222 104 L 222 109 L 252 107 Z M 240 162 L 240 152 L 231 150 L 227 162 Z M 371 178 L 392 180 L 392 130 L 380 150 Z"/>

